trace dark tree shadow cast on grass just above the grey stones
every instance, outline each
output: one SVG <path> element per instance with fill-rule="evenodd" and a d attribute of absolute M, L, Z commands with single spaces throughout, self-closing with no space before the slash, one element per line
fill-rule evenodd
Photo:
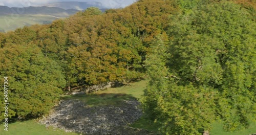
<path fill-rule="evenodd" d="M 78 99 L 89 106 L 102 105 L 122 105 L 124 100 L 137 100 L 131 94 L 87 94 L 87 95 L 69 95 L 61 97 L 61 100 Z"/>

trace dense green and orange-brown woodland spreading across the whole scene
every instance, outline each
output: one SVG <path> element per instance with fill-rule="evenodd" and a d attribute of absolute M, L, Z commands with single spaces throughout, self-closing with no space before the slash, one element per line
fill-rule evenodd
<path fill-rule="evenodd" d="M 68 87 L 146 75 L 144 113 L 164 134 L 200 134 L 219 119 L 228 131 L 247 128 L 256 120 L 255 5 L 140 0 L 0 33 L 9 117 L 47 114 Z"/>

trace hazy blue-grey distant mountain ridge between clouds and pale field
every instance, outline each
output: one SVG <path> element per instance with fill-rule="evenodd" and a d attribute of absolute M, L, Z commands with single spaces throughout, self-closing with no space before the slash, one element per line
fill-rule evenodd
<path fill-rule="evenodd" d="M 7 6 L 0 6 L 0 15 L 20 14 L 20 15 L 52 15 L 56 17 L 68 17 L 75 14 L 79 10 L 76 9 L 62 9 L 58 7 L 25 7 L 25 8 L 9 8 Z"/>

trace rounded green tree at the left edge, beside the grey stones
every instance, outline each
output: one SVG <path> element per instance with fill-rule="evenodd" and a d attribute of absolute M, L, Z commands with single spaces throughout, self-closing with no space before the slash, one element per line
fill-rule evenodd
<path fill-rule="evenodd" d="M 33 44 L 5 46 L 0 52 L 1 83 L 5 76 L 9 79 L 8 117 L 31 119 L 49 113 L 66 85 L 60 66 Z"/>

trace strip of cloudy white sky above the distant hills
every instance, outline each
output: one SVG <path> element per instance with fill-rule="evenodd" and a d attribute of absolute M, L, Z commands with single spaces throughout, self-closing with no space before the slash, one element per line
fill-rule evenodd
<path fill-rule="evenodd" d="M 73 2 L 100 2 L 109 8 L 121 8 L 133 4 L 136 0 L 70 0 Z M 53 2 L 70 2 L 69 0 L 0 0 L 1 6 L 29 7 L 44 5 Z"/>

